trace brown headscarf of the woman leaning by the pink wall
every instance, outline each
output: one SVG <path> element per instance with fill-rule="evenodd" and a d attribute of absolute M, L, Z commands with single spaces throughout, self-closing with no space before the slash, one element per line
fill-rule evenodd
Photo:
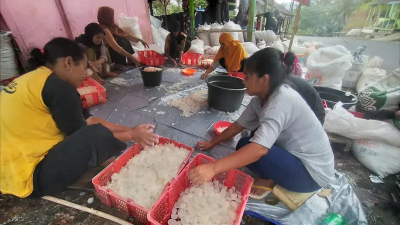
<path fill-rule="evenodd" d="M 123 31 L 114 23 L 114 9 L 108 6 L 101 6 L 97 11 L 97 21 L 101 28 L 108 29 L 112 35 L 125 37 L 129 36 L 129 33 Z"/>

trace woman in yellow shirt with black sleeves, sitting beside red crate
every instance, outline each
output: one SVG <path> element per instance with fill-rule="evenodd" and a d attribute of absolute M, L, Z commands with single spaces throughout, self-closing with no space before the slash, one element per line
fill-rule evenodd
<path fill-rule="evenodd" d="M 41 197 L 75 182 L 133 140 L 152 145 L 154 126 L 116 125 L 83 110 L 76 87 L 87 57 L 78 43 L 56 37 L 31 51 L 34 70 L 0 92 L 0 191 Z"/>

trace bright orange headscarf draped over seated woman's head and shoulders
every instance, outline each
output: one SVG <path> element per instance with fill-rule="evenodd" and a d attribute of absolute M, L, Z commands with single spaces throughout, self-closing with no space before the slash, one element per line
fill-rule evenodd
<path fill-rule="evenodd" d="M 219 36 L 219 41 L 227 47 L 226 50 L 222 50 L 221 47 L 219 48 L 214 61 L 224 58 L 226 70 L 228 72 L 239 70 L 241 60 L 247 57 L 247 52 L 243 45 L 241 45 L 240 41 L 234 40 L 230 33 L 225 32 Z"/>

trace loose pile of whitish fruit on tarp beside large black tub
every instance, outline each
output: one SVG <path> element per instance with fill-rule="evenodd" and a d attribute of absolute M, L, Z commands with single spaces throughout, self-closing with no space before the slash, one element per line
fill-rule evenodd
<path fill-rule="evenodd" d="M 182 110 L 181 116 L 189 117 L 195 113 L 204 113 L 201 108 L 207 105 L 207 89 L 198 90 L 187 97 L 172 98 L 168 105 Z"/>

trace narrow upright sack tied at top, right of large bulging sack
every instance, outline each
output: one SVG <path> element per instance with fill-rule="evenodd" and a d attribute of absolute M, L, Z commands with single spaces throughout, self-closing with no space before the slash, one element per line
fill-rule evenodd
<path fill-rule="evenodd" d="M 353 60 L 351 60 L 351 68 L 344 72 L 342 79 L 342 86 L 354 88 L 357 85 L 357 81 L 365 69 L 366 59 L 363 55 L 358 55 L 358 57 L 353 55 Z"/>

